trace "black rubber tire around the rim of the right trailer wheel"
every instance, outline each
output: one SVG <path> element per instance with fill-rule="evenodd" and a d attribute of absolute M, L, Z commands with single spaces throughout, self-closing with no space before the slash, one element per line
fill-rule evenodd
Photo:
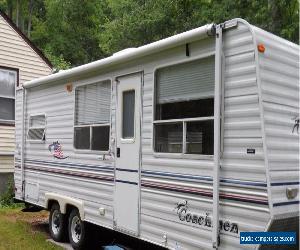
<path fill-rule="evenodd" d="M 75 218 L 76 217 L 76 218 Z M 80 234 L 79 239 L 74 240 L 72 237 L 72 220 L 77 220 L 79 219 L 78 225 L 78 232 Z M 88 225 L 84 221 L 81 220 L 79 211 L 77 209 L 73 209 L 69 215 L 68 219 L 68 234 L 69 234 L 69 241 L 73 249 L 76 250 L 83 250 L 83 249 L 89 249 L 89 245 L 91 243 L 90 241 L 90 235 L 88 233 Z M 76 231 L 76 230 L 75 230 Z"/>

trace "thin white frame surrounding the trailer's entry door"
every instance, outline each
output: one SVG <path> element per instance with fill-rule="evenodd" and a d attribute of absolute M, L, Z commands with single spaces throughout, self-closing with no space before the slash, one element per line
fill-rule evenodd
<path fill-rule="evenodd" d="M 114 152 L 115 152 L 114 158 L 116 158 L 117 147 L 118 147 L 118 136 L 121 136 L 121 135 L 119 135 L 120 131 L 118 131 L 118 123 L 122 122 L 122 121 L 119 121 L 120 118 L 118 118 L 118 108 L 121 108 L 119 106 L 119 103 L 118 103 L 118 97 L 119 97 L 118 84 L 120 84 L 120 81 L 118 79 L 122 78 L 122 77 L 130 76 L 130 75 L 136 75 L 136 74 L 140 74 L 140 77 L 141 77 L 140 98 L 139 98 L 139 100 L 136 100 L 136 101 L 138 101 L 138 102 L 136 102 L 136 104 L 138 103 L 140 105 L 139 118 L 138 118 L 140 131 L 139 131 L 139 134 L 136 134 L 136 129 L 134 131 L 135 136 L 140 137 L 140 145 L 139 145 L 139 152 L 138 152 L 139 166 L 138 166 L 138 185 L 137 185 L 137 188 L 138 188 L 138 214 L 137 214 L 137 224 L 138 224 L 138 226 L 137 226 L 137 233 L 134 234 L 131 231 L 126 231 L 126 230 L 123 230 L 123 229 L 119 228 L 116 225 L 116 221 L 115 221 L 116 215 L 115 215 L 115 209 L 114 209 L 114 206 L 115 206 L 114 201 L 113 201 L 113 209 L 112 209 L 112 212 L 113 212 L 113 229 L 116 230 L 116 231 L 122 232 L 122 233 L 126 233 L 126 234 L 131 235 L 131 236 L 139 236 L 140 235 L 140 226 L 141 226 L 141 223 L 140 223 L 141 222 L 141 172 L 142 172 L 141 167 L 142 167 L 142 122 L 143 122 L 144 70 L 137 70 L 137 71 L 132 71 L 130 73 L 115 75 L 113 77 L 114 81 L 113 81 L 113 91 L 112 91 L 115 94 L 114 102 L 115 102 L 115 106 L 116 106 L 116 109 L 115 109 L 115 143 L 114 143 L 115 144 L 114 145 Z M 115 188 L 116 188 L 116 168 L 117 168 L 117 164 L 116 164 L 116 160 L 115 160 L 114 161 L 114 199 L 115 199 Z"/>

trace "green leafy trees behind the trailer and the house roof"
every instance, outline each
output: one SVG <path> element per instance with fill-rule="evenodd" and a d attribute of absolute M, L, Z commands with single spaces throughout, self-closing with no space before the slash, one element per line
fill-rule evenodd
<path fill-rule="evenodd" d="M 298 0 L 0 0 L 56 68 L 241 17 L 299 43 Z"/>

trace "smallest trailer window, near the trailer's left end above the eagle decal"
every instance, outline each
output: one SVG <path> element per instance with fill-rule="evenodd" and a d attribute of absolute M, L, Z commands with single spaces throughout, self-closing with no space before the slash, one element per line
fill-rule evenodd
<path fill-rule="evenodd" d="M 46 117 L 35 115 L 29 118 L 28 139 L 34 141 L 45 140 Z"/>

